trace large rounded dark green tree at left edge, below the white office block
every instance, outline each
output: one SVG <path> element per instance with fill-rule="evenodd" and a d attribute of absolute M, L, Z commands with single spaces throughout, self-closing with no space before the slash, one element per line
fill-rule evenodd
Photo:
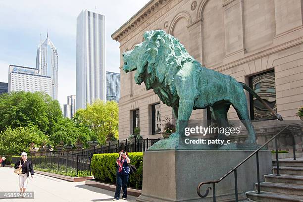
<path fill-rule="evenodd" d="M 62 118 L 58 101 L 47 94 L 36 92 L 12 92 L 0 95 L 0 131 L 6 127 L 35 125 L 50 134 L 54 124 Z"/>

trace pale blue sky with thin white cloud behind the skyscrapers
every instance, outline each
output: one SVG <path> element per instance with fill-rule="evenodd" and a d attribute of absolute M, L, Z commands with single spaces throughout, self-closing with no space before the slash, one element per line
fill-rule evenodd
<path fill-rule="evenodd" d="M 0 0 L 0 82 L 8 65 L 35 67 L 37 47 L 49 38 L 58 51 L 58 101 L 76 93 L 76 19 L 82 9 L 106 15 L 106 70 L 119 72 L 119 43 L 110 38 L 149 0 Z"/>

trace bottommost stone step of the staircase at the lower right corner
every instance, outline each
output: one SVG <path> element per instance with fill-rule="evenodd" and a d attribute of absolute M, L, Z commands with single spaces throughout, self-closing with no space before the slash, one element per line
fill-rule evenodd
<path fill-rule="evenodd" d="M 303 202 L 303 197 L 296 195 L 285 195 L 270 192 L 261 192 L 257 194 L 257 191 L 245 193 L 247 198 L 255 202 Z"/>

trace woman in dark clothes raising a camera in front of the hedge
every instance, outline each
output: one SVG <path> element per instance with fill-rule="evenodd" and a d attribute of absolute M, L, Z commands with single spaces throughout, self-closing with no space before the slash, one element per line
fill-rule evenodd
<path fill-rule="evenodd" d="M 119 152 L 119 158 L 117 158 L 116 163 L 118 165 L 117 173 L 116 173 L 117 186 L 116 186 L 115 198 L 113 199 L 113 201 L 119 200 L 121 187 L 123 190 L 122 199 L 127 198 L 127 182 L 129 178 L 128 164 L 130 163 L 128 153 L 124 152 L 123 150 Z"/>

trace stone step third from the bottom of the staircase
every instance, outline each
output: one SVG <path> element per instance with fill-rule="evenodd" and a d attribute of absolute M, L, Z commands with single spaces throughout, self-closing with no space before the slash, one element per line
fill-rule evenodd
<path fill-rule="evenodd" d="M 270 175 L 264 175 L 264 178 L 265 178 L 265 182 L 303 185 L 303 176 L 300 175 L 277 176 L 277 174 L 270 174 Z"/>

